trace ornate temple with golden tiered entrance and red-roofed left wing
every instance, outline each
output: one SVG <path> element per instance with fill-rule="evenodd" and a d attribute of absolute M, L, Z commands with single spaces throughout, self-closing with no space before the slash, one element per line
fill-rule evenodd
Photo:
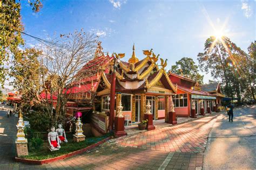
<path fill-rule="evenodd" d="M 111 85 L 115 84 L 114 116 L 116 104 L 122 101 L 125 119 L 130 119 L 133 123 L 139 122 L 144 119 L 146 103 L 150 101 L 153 120 L 167 120 L 172 95 L 177 92 L 177 85 L 173 85 L 165 71 L 167 60 L 160 58 L 158 65 L 159 55 L 156 56 L 152 49 L 143 51 L 145 57 L 139 60 L 134 45 L 132 50 L 131 58 L 125 62 L 122 59 L 124 53 L 104 55 L 99 43 L 95 58 L 78 73 L 89 76 L 77 80 L 67 92 L 71 93 L 69 100 L 78 104 L 77 107 L 67 107 L 67 113 L 75 114 L 81 111 L 84 115 L 87 114 L 86 119 L 90 119 L 98 131 L 105 133 L 111 121 L 108 120 L 111 118 Z M 91 107 L 92 112 L 79 110 L 88 107 Z"/>

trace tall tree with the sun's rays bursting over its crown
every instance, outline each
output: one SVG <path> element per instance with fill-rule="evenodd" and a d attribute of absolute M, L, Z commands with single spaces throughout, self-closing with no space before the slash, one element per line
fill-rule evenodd
<path fill-rule="evenodd" d="M 240 99 L 241 87 L 245 86 L 242 81 L 245 72 L 242 64 L 245 62 L 246 53 L 242 51 L 227 37 L 220 39 L 214 36 L 205 42 L 204 52 L 198 54 L 199 67 L 206 73 L 210 72 L 214 79 L 221 80 L 224 85 L 224 94 Z"/>

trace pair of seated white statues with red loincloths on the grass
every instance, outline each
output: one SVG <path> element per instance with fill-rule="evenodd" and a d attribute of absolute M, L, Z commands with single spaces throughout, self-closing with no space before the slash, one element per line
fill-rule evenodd
<path fill-rule="evenodd" d="M 48 142 L 51 151 L 57 151 L 60 149 L 60 144 L 62 142 L 68 142 L 68 140 L 66 140 L 65 130 L 62 128 L 61 124 L 58 125 L 56 130 L 54 126 L 51 127 L 51 132 L 48 133 Z"/>

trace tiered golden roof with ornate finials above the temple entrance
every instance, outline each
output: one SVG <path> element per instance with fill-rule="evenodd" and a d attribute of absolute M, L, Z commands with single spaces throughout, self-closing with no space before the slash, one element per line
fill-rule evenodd
<path fill-rule="evenodd" d="M 132 62 L 131 60 L 135 57 L 133 45 L 133 55 L 129 59 L 129 63 L 118 60 L 119 69 L 114 71 L 118 80 L 117 90 L 150 89 L 157 86 L 159 81 L 162 81 L 164 84 L 163 88 L 177 92 L 177 85 L 174 86 L 172 84 L 165 71 L 167 59 L 160 58 L 161 64 L 159 69 L 157 64 L 159 55 L 156 56 L 152 49 L 150 51 L 144 50 L 143 54 L 146 55 L 143 60 Z M 118 55 L 116 55 L 116 58 L 119 59 Z M 137 81 L 137 83 L 134 81 Z"/>

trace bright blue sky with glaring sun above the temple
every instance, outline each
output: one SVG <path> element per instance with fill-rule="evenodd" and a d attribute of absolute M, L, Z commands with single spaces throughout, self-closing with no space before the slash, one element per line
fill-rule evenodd
<path fill-rule="evenodd" d="M 25 32 L 46 39 L 48 35 L 84 28 L 100 36 L 104 52 L 132 55 L 135 44 L 139 59 L 142 50 L 153 49 L 168 59 L 167 70 L 182 57 L 196 63 L 207 37 L 225 25 L 222 32 L 242 50 L 255 38 L 254 1 L 43 1 L 33 13 L 22 1 Z M 211 24 L 212 23 L 212 24 Z M 225 23 L 225 24 L 224 24 Z M 36 40 L 24 36 L 28 46 Z M 204 83 L 211 79 L 205 75 Z"/>

